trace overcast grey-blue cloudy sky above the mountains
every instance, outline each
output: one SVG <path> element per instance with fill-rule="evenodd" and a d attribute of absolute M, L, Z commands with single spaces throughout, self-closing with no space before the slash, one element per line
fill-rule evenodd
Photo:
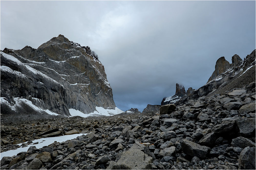
<path fill-rule="evenodd" d="M 255 1 L 1 1 L 0 48 L 59 34 L 98 54 L 116 106 L 161 104 L 176 83 L 198 89 L 218 58 L 255 49 Z"/>

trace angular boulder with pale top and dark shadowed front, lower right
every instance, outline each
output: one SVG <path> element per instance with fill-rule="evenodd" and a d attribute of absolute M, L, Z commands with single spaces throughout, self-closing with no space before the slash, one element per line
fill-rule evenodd
<path fill-rule="evenodd" d="M 197 156 L 199 158 L 205 158 L 208 153 L 208 150 L 210 150 L 209 147 L 201 146 L 187 139 L 184 139 L 181 142 L 181 147 L 184 153 L 190 156 Z"/>

